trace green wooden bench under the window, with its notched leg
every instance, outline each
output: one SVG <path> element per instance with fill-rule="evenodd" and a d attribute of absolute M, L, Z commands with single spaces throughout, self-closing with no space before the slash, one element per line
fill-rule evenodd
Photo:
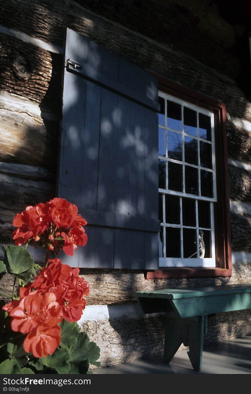
<path fill-rule="evenodd" d="M 135 296 L 144 313 L 166 313 L 164 362 L 172 360 L 183 342 L 189 346 L 192 367 L 200 371 L 207 315 L 251 308 L 251 283 L 153 290 Z"/>

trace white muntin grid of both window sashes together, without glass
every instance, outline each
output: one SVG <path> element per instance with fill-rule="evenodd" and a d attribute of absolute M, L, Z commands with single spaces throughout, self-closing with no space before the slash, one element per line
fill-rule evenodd
<path fill-rule="evenodd" d="M 213 214 L 213 202 L 216 201 L 216 171 L 215 171 L 215 145 L 214 145 L 214 114 L 208 110 L 205 110 L 204 108 L 201 108 L 199 106 L 196 106 L 194 104 L 190 104 L 188 102 L 185 102 L 183 100 L 177 99 L 176 97 L 167 95 L 165 93 L 159 92 L 159 96 L 163 97 L 165 99 L 165 126 L 159 125 L 160 128 L 165 129 L 165 151 L 166 151 L 166 156 L 159 156 L 162 160 L 165 160 L 166 162 L 166 186 L 167 189 L 159 189 L 159 193 L 163 194 L 163 218 L 165 218 L 165 198 L 164 195 L 166 194 L 172 194 L 180 197 L 189 197 L 192 199 L 196 200 L 196 226 L 185 226 L 182 223 L 182 199 L 180 199 L 180 224 L 170 224 L 170 223 L 164 223 L 161 222 L 161 227 L 163 228 L 163 252 L 164 252 L 164 257 L 159 258 L 159 266 L 160 267 L 184 267 L 184 266 L 194 266 L 194 267 L 215 267 L 215 239 L 214 239 L 214 214 Z M 167 125 L 167 100 L 176 102 L 177 104 L 181 105 L 181 121 L 182 121 L 182 130 L 175 130 Z M 196 117 L 197 117 L 197 131 L 198 135 L 193 136 L 191 134 L 185 133 L 184 132 L 184 112 L 183 108 L 184 106 L 186 108 L 192 109 L 196 111 Z M 211 119 L 211 141 L 207 139 L 203 139 L 200 137 L 199 133 L 199 113 L 203 113 L 207 116 L 210 117 Z M 175 160 L 168 158 L 168 149 L 167 149 L 167 130 L 174 131 L 178 134 L 182 135 L 182 161 L 180 160 Z M 184 149 L 184 137 L 188 136 L 191 138 L 194 138 L 198 141 L 198 165 L 194 165 L 191 163 L 185 162 L 185 149 Z M 200 141 L 205 141 L 208 144 L 211 144 L 212 147 L 212 169 L 202 167 L 200 165 Z M 177 164 L 182 164 L 183 165 L 183 191 L 173 191 L 173 190 L 168 190 L 168 162 L 174 162 Z M 185 165 L 194 167 L 198 169 L 198 191 L 199 195 L 195 194 L 189 194 L 185 192 Z M 201 184 L 200 184 L 200 170 L 205 170 L 213 173 L 213 197 L 205 197 L 201 195 Z M 198 200 L 204 200 L 204 201 L 209 201 L 211 202 L 210 204 L 210 215 L 211 215 L 211 227 L 210 228 L 203 228 L 199 227 L 198 225 Z M 165 229 L 167 227 L 175 227 L 175 228 L 180 228 L 180 252 L 181 252 L 181 257 L 180 258 L 173 258 L 173 257 L 166 257 L 166 234 L 165 234 Z M 196 238 L 197 238 L 197 255 L 199 256 L 199 243 L 198 243 L 198 233 L 199 230 L 208 230 L 211 233 L 211 258 L 184 258 L 183 257 L 183 229 L 194 229 L 196 230 Z"/>

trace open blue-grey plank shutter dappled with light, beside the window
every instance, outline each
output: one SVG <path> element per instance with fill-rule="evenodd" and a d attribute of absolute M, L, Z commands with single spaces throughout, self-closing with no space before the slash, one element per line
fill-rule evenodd
<path fill-rule="evenodd" d="M 157 79 L 70 29 L 58 196 L 88 221 L 87 245 L 63 262 L 158 268 Z"/>

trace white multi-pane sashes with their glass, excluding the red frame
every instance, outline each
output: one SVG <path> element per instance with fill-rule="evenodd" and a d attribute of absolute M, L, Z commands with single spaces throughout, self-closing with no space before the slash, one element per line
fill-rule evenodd
<path fill-rule="evenodd" d="M 159 266 L 215 267 L 214 114 L 159 93 Z"/>

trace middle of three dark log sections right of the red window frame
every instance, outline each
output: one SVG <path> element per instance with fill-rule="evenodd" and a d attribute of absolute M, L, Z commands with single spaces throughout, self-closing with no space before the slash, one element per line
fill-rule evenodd
<path fill-rule="evenodd" d="M 243 168 L 229 165 L 229 194 L 232 200 L 251 202 L 251 174 Z"/>

